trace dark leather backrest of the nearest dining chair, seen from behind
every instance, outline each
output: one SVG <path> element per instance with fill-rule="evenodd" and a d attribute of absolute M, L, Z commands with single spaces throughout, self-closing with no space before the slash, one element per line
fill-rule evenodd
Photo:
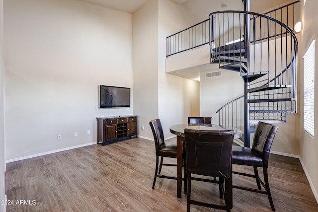
<path fill-rule="evenodd" d="M 231 173 L 234 131 L 185 129 L 187 171 L 205 176 L 226 177 Z"/>

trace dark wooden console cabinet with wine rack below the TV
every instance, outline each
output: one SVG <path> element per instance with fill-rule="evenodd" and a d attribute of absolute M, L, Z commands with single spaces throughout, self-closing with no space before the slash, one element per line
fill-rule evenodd
<path fill-rule="evenodd" d="M 97 117 L 97 143 L 135 136 L 138 116 Z"/>

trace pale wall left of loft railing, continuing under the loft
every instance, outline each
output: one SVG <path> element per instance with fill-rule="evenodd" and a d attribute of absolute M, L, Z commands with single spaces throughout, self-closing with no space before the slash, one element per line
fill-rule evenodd
<path fill-rule="evenodd" d="M 159 118 L 165 138 L 171 125 L 187 123 L 188 116 L 200 115 L 200 83 L 166 73 L 165 38 L 193 24 L 196 20 L 183 6 L 159 0 Z"/>

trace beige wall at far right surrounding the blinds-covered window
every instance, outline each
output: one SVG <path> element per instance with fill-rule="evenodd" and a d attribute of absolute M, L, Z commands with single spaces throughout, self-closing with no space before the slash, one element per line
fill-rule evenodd
<path fill-rule="evenodd" d="M 302 45 L 300 46 L 299 58 L 300 58 L 300 97 L 301 103 L 300 105 L 304 105 L 304 60 L 303 57 L 311 44 L 311 42 L 316 39 L 316 49 L 315 49 L 315 105 L 318 105 L 318 1 L 316 0 L 307 0 L 304 5 L 304 0 L 301 0 L 301 14 L 302 14 L 302 23 L 303 30 L 300 32 Z M 301 107 L 300 110 L 300 131 L 301 131 L 301 139 L 300 139 L 300 157 L 301 161 L 305 168 L 305 173 L 310 180 L 310 184 L 312 186 L 312 190 L 318 201 L 318 124 L 315 125 L 315 137 L 312 138 L 308 133 L 304 131 L 304 110 Z M 318 107 L 315 107 L 315 124 L 318 123 Z"/>

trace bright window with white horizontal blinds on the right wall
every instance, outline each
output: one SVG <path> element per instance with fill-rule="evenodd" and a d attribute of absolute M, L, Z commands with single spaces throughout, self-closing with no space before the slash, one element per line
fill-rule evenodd
<path fill-rule="evenodd" d="M 304 56 L 304 130 L 314 136 L 315 40 Z"/>

